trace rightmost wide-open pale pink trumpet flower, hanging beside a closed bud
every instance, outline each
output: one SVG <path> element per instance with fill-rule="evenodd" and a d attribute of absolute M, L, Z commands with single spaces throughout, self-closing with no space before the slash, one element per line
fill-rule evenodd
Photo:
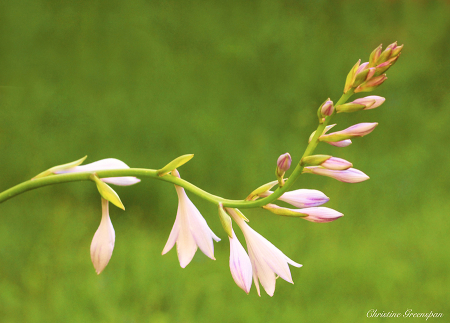
<path fill-rule="evenodd" d="M 231 215 L 244 234 L 248 255 L 252 264 L 253 280 L 258 295 L 261 296 L 259 288 L 259 283 L 261 283 L 266 293 L 269 296 L 273 296 L 273 293 L 275 292 L 276 275 L 293 284 L 294 282 L 292 281 L 288 264 L 296 267 L 301 267 L 302 265 L 289 259 L 270 241 L 248 226 L 234 209 L 227 208 L 227 212 Z"/>

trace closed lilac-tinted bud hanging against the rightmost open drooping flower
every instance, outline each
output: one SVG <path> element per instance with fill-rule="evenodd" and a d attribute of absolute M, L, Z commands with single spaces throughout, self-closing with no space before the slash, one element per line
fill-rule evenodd
<path fill-rule="evenodd" d="M 252 287 L 252 263 L 234 231 L 230 240 L 230 271 L 235 283 L 247 294 Z"/>

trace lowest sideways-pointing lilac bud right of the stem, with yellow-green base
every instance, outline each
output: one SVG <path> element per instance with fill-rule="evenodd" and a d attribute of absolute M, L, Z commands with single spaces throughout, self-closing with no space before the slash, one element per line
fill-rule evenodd
<path fill-rule="evenodd" d="M 325 223 L 339 219 L 343 214 L 328 207 L 309 207 L 304 209 L 288 209 L 275 204 L 267 204 L 264 209 L 283 216 L 300 217 L 310 222 Z"/>

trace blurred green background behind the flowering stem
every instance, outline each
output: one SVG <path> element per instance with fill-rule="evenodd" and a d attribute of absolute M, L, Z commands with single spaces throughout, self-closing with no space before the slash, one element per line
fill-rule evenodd
<path fill-rule="evenodd" d="M 247 210 L 287 256 L 295 285 L 239 289 L 213 205 L 192 196 L 223 240 L 181 269 L 161 256 L 177 197 L 143 180 L 116 191 L 116 246 L 97 276 L 93 184 L 45 187 L 0 205 L 1 322 L 384 322 L 379 312 L 441 312 L 450 269 L 450 4 L 448 1 L 0 2 L 1 190 L 88 155 L 158 168 L 194 153 L 182 177 L 227 198 L 297 162 L 316 109 L 340 97 L 370 52 L 405 44 L 378 109 L 337 128 L 379 122 L 369 136 L 316 150 L 353 162 L 360 184 L 305 175 L 345 217 L 328 224 Z M 424 320 L 424 319 L 417 319 Z"/>

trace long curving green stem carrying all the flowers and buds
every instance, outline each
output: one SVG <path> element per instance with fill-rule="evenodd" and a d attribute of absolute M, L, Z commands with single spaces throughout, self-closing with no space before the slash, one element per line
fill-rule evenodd
<path fill-rule="evenodd" d="M 336 106 L 339 104 L 345 103 L 348 98 L 353 94 L 353 90 L 348 91 L 346 94 L 343 94 L 339 101 L 336 103 Z M 325 118 L 324 123 L 319 124 L 316 130 L 316 134 L 312 138 L 311 142 L 306 147 L 305 152 L 303 153 L 303 157 L 309 156 L 314 152 L 314 149 L 317 147 L 319 143 L 319 137 L 322 134 L 325 127 L 330 122 L 332 116 L 329 116 Z M 228 200 L 224 199 L 220 196 L 216 196 L 213 194 L 210 194 L 201 188 L 191 184 L 190 182 L 172 176 L 172 175 L 165 175 L 165 176 L 158 176 L 157 170 L 154 169 L 144 169 L 144 168 L 129 168 L 129 169 L 117 169 L 117 170 L 102 170 L 102 171 L 96 171 L 95 173 L 99 178 L 106 178 L 106 177 L 121 177 L 121 176 L 135 176 L 138 178 L 148 177 L 153 179 L 158 179 L 161 181 L 169 182 L 181 187 L 184 187 L 186 190 L 194 193 L 195 195 L 212 202 L 214 204 L 219 204 L 220 202 L 225 207 L 233 207 L 233 208 L 256 208 L 256 207 L 262 207 L 268 203 L 271 203 L 275 201 L 277 198 L 279 198 L 283 193 L 285 193 L 298 179 L 298 177 L 302 174 L 304 165 L 302 164 L 301 160 L 295 167 L 294 171 L 292 172 L 291 176 L 289 176 L 289 179 L 284 183 L 282 187 L 279 187 L 277 190 L 274 191 L 273 194 L 258 199 L 255 201 L 244 201 L 244 200 Z M 90 176 L 93 172 L 82 172 L 82 173 L 69 173 L 69 174 L 61 174 L 61 175 L 51 175 L 43 178 L 38 178 L 34 180 L 29 180 L 23 183 L 20 183 L 14 187 L 11 187 L 10 189 L 3 191 L 0 193 L 0 203 L 17 196 L 19 194 L 22 194 L 24 192 L 43 187 L 48 185 L 54 185 L 59 183 L 68 183 L 68 182 L 77 182 L 77 181 L 90 181 Z"/>

